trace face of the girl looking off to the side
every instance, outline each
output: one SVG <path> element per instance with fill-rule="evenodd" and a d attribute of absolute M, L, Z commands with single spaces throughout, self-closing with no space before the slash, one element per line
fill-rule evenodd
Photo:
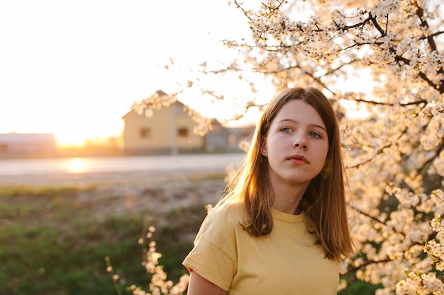
<path fill-rule="evenodd" d="M 268 158 L 270 180 L 308 186 L 328 154 L 321 116 L 303 100 L 290 101 L 274 117 L 260 153 Z"/>

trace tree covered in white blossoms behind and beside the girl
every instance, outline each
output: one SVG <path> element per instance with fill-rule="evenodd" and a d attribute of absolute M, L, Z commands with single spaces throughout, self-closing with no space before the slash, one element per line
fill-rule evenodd
<path fill-rule="evenodd" d="M 378 285 L 377 295 L 443 294 L 443 1 L 251 2 L 231 1 L 251 35 L 224 40 L 241 58 L 200 65 L 184 88 L 236 105 L 231 120 L 263 106 L 254 75 L 277 91 L 322 88 L 341 117 L 357 246 L 343 262 L 341 287 L 359 279 Z M 205 85 L 205 77 L 230 74 L 251 87 L 248 100 Z M 201 122 L 200 131 L 211 128 Z"/>

